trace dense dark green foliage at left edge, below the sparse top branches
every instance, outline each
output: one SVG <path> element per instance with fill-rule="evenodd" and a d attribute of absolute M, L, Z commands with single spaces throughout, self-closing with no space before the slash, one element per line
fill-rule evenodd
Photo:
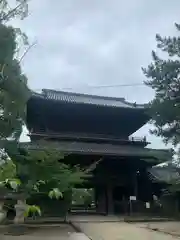
<path fill-rule="evenodd" d="M 18 138 L 25 119 L 25 106 L 29 97 L 27 78 L 21 73 L 16 51 L 15 31 L 0 25 L 0 138 Z"/>

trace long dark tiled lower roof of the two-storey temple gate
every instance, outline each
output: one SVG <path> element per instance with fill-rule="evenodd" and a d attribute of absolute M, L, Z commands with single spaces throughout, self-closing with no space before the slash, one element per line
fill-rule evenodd
<path fill-rule="evenodd" d="M 34 141 L 33 143 L 20 143 L 20 147 L 38 150 L 52 148 L 64 153 L 92 154 L 92 155 L 111 155 L 111 156 L 138 156 L 164 159 L 167 151 L 158 151 L 148 148 L 126 145 L 98 144 L 87 142 L 49 142 L 49 141 Z"/>

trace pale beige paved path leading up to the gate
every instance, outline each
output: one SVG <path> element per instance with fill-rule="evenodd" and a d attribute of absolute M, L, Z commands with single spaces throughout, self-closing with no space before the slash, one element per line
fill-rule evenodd
<path fill-rule="evenodd" d="M 135 224 L 124 222 L 87 223 L 76 222 L 80 228 L 92 240 L 177 240 L 168 234 L 141 228 Z"/>

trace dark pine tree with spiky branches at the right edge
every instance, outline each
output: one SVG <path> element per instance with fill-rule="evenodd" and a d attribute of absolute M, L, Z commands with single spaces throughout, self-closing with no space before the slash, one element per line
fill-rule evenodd
<path fill-rule="evenodd" d="M 175 24 L 177 31 L 180 25 Z M 174 145 L 180 142 L 180 37 L 156 35 L 157 48 L 168 55 L 161 58 L 152 52 L 153 62 L 143 68 L 149 78 L 145 84 L 155 90 L 150 102 L 150 115 L 155 125 L 153 134 L 163 137 Z"/>

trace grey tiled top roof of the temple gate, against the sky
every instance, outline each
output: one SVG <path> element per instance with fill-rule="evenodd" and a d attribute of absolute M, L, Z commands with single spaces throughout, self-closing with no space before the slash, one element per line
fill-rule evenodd
<path fill-rule="evenodd" d="M 72 93 L 72 92 L 63 92 L 63 91 L 55 91 L 49 89 L 43 89 L 41 94 L 33 93 L 34 96 L 62 101 L 62 102 L 71 102 L 71 103 L 84 103 L 84 104 L 92 104 L 99 106 L 110 106 L 110 107 L 122 107 L 122 108 L 145 108 L 143 104 L 129 103 L 126 102 L 124 98 L 114 98 L 114 97 L 103 97 L 103 96 L 95 96 L 88 94 L 80 94 L 80 93 Z"/>

